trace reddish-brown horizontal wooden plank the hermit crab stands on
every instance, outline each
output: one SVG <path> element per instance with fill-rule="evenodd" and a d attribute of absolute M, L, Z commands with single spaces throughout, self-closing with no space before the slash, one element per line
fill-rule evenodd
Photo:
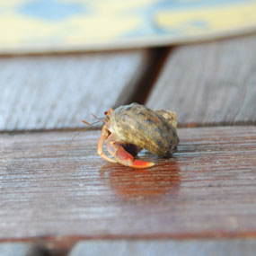
<path fill-rule="evenodd" d="M 133 170 L 100 131 L 0 136 L 0 241 L 256 237 L 256 127 L 180 128 L 172 159 Z"/>

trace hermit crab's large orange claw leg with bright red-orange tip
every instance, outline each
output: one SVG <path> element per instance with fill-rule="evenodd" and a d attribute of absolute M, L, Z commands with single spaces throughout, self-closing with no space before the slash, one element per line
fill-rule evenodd
<path fill-rule="evenodd" d="M 134 159 L 134 157 L 124 149 L 123 143 L 119 141 L 119 137 L 114 133 L 110 134 L 107 139 L 107 149 L 117 162 L 125 166 L 132 168 L 148 168 L 154 165 L 154 163 L 151 162 Z"/>

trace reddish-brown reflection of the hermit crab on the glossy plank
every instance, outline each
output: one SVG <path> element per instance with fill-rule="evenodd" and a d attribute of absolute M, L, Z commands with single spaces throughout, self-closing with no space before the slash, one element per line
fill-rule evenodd
<path fill-rule="evenodd" d="M 155 157 L 154 157 L 155 158 Z M 158 168 L 120 172 L 118 164 L 105 164 L 100 170 L 101 177 L 107 181 L 111 190 L 123 199 L 158 199 L 164 193 L 178 194 L 181 177 L 179 165 L 170 163 L 158 165 Z"/>

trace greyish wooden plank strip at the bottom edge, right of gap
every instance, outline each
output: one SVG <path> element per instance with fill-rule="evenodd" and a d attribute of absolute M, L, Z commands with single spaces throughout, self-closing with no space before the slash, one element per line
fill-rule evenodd
<path fill-rule="evenodd" d="M 182 255 L 182 256 L 254 256 L 256 240 L 191 240 L 191 241 L 83 241 L 69 256 L 111 255 Z"/>

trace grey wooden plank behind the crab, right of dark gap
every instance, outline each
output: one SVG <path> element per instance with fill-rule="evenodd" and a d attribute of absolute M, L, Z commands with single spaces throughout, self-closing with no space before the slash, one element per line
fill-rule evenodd
<path fill-rule="evenodd" d="M 256 123 L 256 35 L 173 49 L 146 102 L 180 125 Z"/>

